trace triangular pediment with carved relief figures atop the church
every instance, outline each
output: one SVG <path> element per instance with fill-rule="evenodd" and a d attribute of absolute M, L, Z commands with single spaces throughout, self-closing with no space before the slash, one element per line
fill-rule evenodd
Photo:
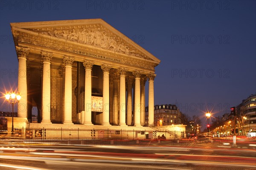
<path fill-rule="evenodd" d="M 66 42 L 78 43 L 159 64 L 160 60 L 102 19 L 11 23 L 26 30 Z"/>

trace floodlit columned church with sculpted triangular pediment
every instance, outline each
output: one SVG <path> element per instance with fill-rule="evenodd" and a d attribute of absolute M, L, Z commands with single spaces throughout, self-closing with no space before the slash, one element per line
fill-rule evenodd
<path fill-rule="evenodd" d="M 104 20 L 11 23 L 11 28 L 21 123 L 29 124 L 37 107 L 38 124 L 141 127 L 148 100 L 148 124 L 154 125 L 160 60 Z"/>

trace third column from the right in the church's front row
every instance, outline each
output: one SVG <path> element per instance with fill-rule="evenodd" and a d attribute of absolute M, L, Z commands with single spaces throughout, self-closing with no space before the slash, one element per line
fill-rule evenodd
<path fill-rule="evenodd" d="M 121 68 L 119 69 L 120 73 L 120 97 L 119 97 L 119 125 L 126 126 L 125 124 L 125 74 L 127 69 Z"/>

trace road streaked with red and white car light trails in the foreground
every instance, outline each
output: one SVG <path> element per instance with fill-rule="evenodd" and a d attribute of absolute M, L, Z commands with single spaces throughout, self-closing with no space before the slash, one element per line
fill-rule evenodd
<path fill-rule="evenodd" d="M 247 147 L 219 141 L 139 142 L 2 143 L 0 170 L 256 170 L 250 142 Z"/>

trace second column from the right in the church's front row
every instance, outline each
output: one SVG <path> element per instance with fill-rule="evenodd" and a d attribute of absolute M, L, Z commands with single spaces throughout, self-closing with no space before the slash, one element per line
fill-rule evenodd
<path fill-rule="evenodd" d="M 142 72 L 133 72 L 135 76 L 134 126 L 140 127 L 140 76 Z"/>

